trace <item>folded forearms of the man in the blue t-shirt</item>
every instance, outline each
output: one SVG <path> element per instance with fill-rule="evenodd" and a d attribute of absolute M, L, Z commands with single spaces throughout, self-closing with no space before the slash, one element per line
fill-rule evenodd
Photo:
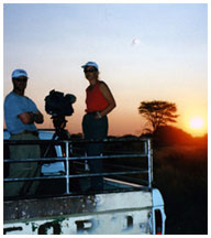
<path fill-rule="evenodd" d="M 40 112 L 40 111 L 36 111 L 36 112 L 32 112 L 32 111 L 26 111 L 26 112 L 23 112 L 21 115 L 18 116 L 20 118 L 20 120 L 23 122 L 23 123 L 26 123 L 26 125 L 31 125 L 31 123 L 43 123 L 43 115 Z"/>

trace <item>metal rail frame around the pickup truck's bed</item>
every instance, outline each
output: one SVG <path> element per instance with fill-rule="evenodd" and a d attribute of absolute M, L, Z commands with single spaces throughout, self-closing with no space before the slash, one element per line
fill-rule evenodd
<path fill-rule="evenodd" d="M 38 141 L 11 141 L 4 140 L 4 144 L 42 144 L 49 143 L 49 140 L 38 140 Z M 144 142 L 144 153 L 135 153 L 135 154 L 113 154 L 113 155 L 100 155 L 100 156 L 70 156 L 69 152 L 73 150 L 73 143 L 114 143 L 114 142 Z M 109 176 L 109 175 L 125 175 L 125 174 L 148 174 L 148 188 L 152 188 L 153 183 L 153 149 L 152 141 L 148 138 L 142 138 L 136 140 L 125 140 L 125 139 L 106 139 L 106 140 L 63 140 L 55 141 L 53 144 L 65 144 L 65 156 L 60 158 L 40 158 L 40 159 L 4 159 L 4 163 L 18 163 L 18 162 L 47 162 L 47 161 L 64 161 L 66 163 L 66 174 L 65 175 L 56 175 L 56 176 L 38 176 L 38 177 L 22 177 L 22 178 L 4 178 L 3 182 L 18 182 L 18 181 L 41 181 L 41 180 L 52 180 L 52 178 L 66 178 L 66 194 L 70 194 L 69 191 L 69 180 L 74 177 L 91 177 L 91 176 Z M 107 172 L 107 173 L 89 173 L 89 174 L 69 174 L 69 161 L 71 160 L 106 160 L 106 159 L 124 159 L 124 158 L 147 158 L 148 169 L 147 170 L 134 170 L 126 172 Z"/>

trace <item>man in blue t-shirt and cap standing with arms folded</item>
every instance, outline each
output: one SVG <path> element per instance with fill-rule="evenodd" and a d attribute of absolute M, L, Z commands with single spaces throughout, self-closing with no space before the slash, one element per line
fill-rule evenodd
<path fill-rule="evenodd" d="M 27 74 L 23 69 L 12 73 L 13 90 L 4 100 L 4 118 L 10 140 L 38 140 L 36 123 L 43 123 L 43 115 L 29 97 L 24 96 L 27 84 Z M 41 158 L 40 147 L 11 145 L 10 159 Z M 41 170 L 37 162 L 10 163 L 9 177 L 40 176 Z M 38 182 L 12 182 L 4 184 L 4 196 L 33 195 Z"/>

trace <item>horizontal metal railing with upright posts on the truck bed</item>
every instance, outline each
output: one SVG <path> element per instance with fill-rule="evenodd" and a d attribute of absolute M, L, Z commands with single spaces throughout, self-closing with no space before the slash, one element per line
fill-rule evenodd
<path fill-rule="evenodd" d="M 135 139 L 135 140 L 126 140 L 126 139 L 106 139 L 101 141 L 97 140 L 59 140 L 59 141 L 51 141 L 51 140 L 36 140 L 36 141 L 15 141 L 15 140 L 4 140 L 4 145 L 18 145 L 18 144 L 46 144 L 52 143 L 54 145 L 60 145 L 64 149 L 63 156 L 56 158 L 37 158 L 37 159 L 4 159 L 4 163 L 20 163 L 20 162 L 58 162 L 63 161 L 65 163 L 66 173 L 62 175 L 47 175 L 47 176 L 37 176 L 37 177 L 5 177 L 3 180 L 4 183 L 12 183 L 12 182 L 23 182 L 23 181 L 42 181 L 42 180 L 58 180 L 65 178 L 66 180 L 66 194 L 70 194 L 69 191 L 69 181 L 70 178 L 81 178 L 81 177 L 93 177 L 93 176 L 119 176 L 119 175 L 136 175 L 136 174 L 147 174 L 147 181 L 145 187 L 152 188 L 153 182 L 153 149 L 152 149 L 152 141 L 148 138 Z M 73 149 L 75 144 L 79 144 L 82 147 L 85 143 L 144 143 L 143 151 L 137 153 L 123 153 L 123 154 L 102 154 L 99 156 L 87 156 L 87 155 L 75 155 L 73 153 Z M 140 159 L 146 158 L 147 159 L 147 167 L 146 169 L 133 169 L 127 171 L 115 171 L 115 172 L 102 172 L 102 173 L 80 173 L 80 174 L 70 174 L 69 172 L 69 162 L 70 161 L 88 161 L 88 160 L 120 160 L 120 159 Z M 138 161 L 137 161 L 138 163 Z M 118 167 L 118 166 L 116 166 Z M 124 166 L 126 167 L 126 166 Z"/>

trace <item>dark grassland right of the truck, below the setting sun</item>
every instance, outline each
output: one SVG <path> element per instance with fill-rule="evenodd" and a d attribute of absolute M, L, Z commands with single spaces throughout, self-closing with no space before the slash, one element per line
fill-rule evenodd
<path fill-rule="evenodd" d="M 167 215 L 166 234 L 208 234 L 207 144 L 173 145 L 154 151 L 154 186 Z"/>

